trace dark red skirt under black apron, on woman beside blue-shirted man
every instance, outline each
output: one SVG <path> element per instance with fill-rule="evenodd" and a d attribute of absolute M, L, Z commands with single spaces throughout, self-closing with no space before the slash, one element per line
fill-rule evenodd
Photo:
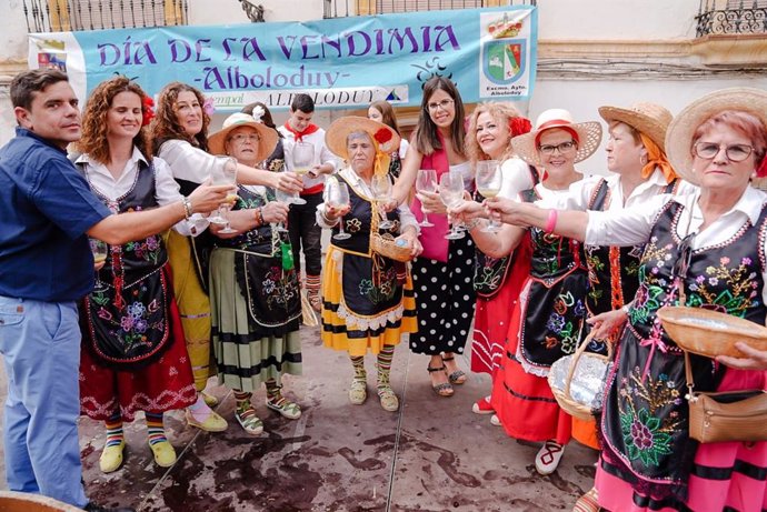
<path fill-rule="evenodd" d="M 133 421 L 137 411 L 159 414 L 197 400 L 191 364 L 176 300 L 170 300 L 170 345 L 151 364 L 132 371 L 107 368 L 80 348 L 80 413 L 107 420 L 120 411 Z"/>

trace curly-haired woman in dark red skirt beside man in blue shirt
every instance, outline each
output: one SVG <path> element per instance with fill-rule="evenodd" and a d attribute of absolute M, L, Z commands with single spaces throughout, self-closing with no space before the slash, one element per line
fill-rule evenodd
<path fill-rule="evenodd" d="M 117 77 L 91 93 L 83 114 L 82 153 L 74 163 L 113 212 L 147 210 L 183 200 L 168 164 L 152 158 L 145 126 L 151 99 L 136 83 Z M 198 188 L 190 195 L 205 193 Z M 200 215 L 175 227 L 180 235 L 201 232 Z M 162 424 L 166 411 L 195 403 L 191 365 L 181 319 L 170 287 L 162 238 L 111 245 L 94 290 L 83 300 L 80 403 L 83 414 L 106 422 L 101 471 L 122 463 L 122 422 L 145 412 L 149 446 L 158 465 L 176 462 Z"/>

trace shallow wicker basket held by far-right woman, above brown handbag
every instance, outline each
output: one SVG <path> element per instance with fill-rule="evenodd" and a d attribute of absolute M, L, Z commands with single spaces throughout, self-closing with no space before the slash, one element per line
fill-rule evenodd
<path fill-rule="evenodd" d="M 658 318 L 671 340 L 680 349 L 695 354 L 745 358 L 735 348 L 737 341 L 757 350 L 767 350 L 767 328 L 731 314 L 703 308 L 665 305 L 658 310 Z"/>

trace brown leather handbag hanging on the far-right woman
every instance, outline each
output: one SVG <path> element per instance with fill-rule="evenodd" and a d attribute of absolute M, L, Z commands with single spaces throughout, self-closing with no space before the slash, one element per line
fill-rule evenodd
<path fill-rule="evenodd" d="M 689 436 L 701 443 L 767 441 L 765 390 L 695 392 L 689 353 L 685 352 Z"/>

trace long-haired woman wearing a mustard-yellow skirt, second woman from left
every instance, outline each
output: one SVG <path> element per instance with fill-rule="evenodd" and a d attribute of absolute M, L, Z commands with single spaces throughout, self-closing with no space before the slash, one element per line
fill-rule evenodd
<path fill-rule="evenodd" d="M 160 91 L 157 116 L 151 124 L 152 147 L 168 162 L 185 193 L 205 182 L 220 164 L 217 163 L 220 160 L 208 152 L 210 114 L 203 107 L 206 100 L 199 90 L 171 82 Z M 237 165 L 237 181 L 287 192 L 298 192 L 302 187 L 292 173 L 273 173 L 242 163 Z M 215 364 L 211 368 L 210 301 L 206 291 L 211 248 L 210 237 L 188 239 L 172 231 L 168 237 L 173 289 L 199 392 L 197 402 L 187 410 L 187 422 L 209 432 L 220 432 L 227 429 L 227 422 L 210 409 L 217 400 L 202 393 L 208 378 L 216 374 Z"/>

